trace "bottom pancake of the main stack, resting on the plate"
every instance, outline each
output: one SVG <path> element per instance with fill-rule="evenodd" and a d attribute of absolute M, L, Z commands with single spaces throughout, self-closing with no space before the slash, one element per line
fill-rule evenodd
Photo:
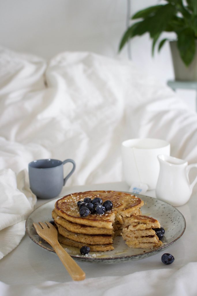
<path fill-rule="evenodd" d="M 63 237 L 61 234 L 58 234 L 58 241 L 61 244 L 64 244 L 66 246 L 76 247 L 79 249 L 84 246 L 83 243 L 75 242 L 71 239 Z M 90 248 L 91 252 L 105 252 L 105 251 L 114 250 L 114 247 L 112 244 L 85 244 L 85 245 Z"/>

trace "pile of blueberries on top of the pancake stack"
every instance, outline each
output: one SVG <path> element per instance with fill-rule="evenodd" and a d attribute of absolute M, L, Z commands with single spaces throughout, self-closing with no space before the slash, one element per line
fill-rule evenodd
<path fill-rule="evenodd" d="M 110 211 L 113 207 L 113 203 L 110 200 L 102 202 L 102 199 L 99 197 L 95 197 L 93 200 L 86 197 L 84 200 L 79 200 L 77 205 L 79 207 L 79 214 L 81 217 L 87 217 L 89 214 L 94 213 L 103 215 L 106 211 Z"/>

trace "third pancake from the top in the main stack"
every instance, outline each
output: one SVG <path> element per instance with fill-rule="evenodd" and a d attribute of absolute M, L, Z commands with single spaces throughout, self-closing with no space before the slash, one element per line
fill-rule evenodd
<path fill-rule="evenodd" d="M 63 237 L 71 239 L 75 242 L 81 242 L 84 244 L 112 244 L 113 236 L 112 235 L 89 235 L 89 234 L 78 234 L 71 231 L 66 230 L 62 226 L 56 224 L 58 228 L 59 234 Z"/>

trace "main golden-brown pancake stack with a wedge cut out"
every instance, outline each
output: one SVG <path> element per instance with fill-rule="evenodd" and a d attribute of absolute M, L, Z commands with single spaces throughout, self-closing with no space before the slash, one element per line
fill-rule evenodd
<path fill-rule="evenodd" d="M 94 213 L 81 217 L 77 202 L 83 201 L 85 197 L 92 200 L 99 197 L 102 202 L 110 200 L 113 208 L 103 215 Z M 128 226 L 126 221 L 131 217 L 140 219 L 142 217 L 140 208 L 143 205 L 144 202 L 139 197 L 126 192 L 87 191 L 69 194 L 59 199 L 52 211 L 52 217 L 58 229 L 58 240 L 62 244 L 78 248 L 86 245 L 90 251 L 113 250 L 113 239 L 117 235 L 123 233 L 127 243 L 130 229 L 126 233 Z"/>

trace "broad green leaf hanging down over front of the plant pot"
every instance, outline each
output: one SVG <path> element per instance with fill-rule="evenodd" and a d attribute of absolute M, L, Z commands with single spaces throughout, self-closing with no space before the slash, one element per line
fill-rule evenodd
<path fill-rule="evenodd" d="M 196 52 L 195 35 L 191 28 L 183 29 L 178 33 L 177 46 L 181 59 L 186 66 L 189 66 Z"/>

